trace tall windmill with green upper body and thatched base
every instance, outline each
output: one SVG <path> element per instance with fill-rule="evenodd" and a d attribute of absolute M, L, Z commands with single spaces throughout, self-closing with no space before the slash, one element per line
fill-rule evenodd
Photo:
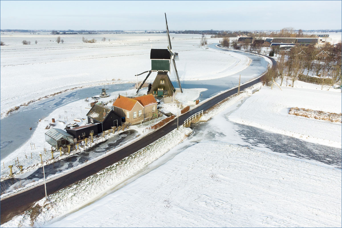
<path fill-rule="evenodd" d="M 168 72 L 170 72 L 170 69 L 172 69 L 174 78 L 176 79 L 179 88 L 181 92 L 183 93 L 181 82 L 179 80 L 176 63 L 175 60 L 179 60 L 178 53 L 172 51 L 171 41 L 170 41 L 170 34 L 169 34 L 169 28 L 168 28 L 168 21 L 166 19 L 166 13 L 165 13 L 165 21 L 166 21 L 166 35 L 169 41 L 169 45 L 167 49 L 151 49 L 150 52 L 150 59 L 151 59 L 151 70 L 145 71 L 140 73 L 139 75 L 142 75 L 144 73 L 147 73 L 146 78 L 144 81 L 140 84 L 139 88 L 136 92 L 139 92 L 142 85 L 145 83 L 147 78 L 151 75 L 152 72 L 157 72 L 156 79 L 154 80 L 153 84 L 149 84 L 148 86 L 148 94 L 153 94 L 157 96 L 172 96 L 175 92 L 175 89 L 171 83 L 171 80 L 168 76 Z M 136 75 L 139 76 L 139 75 Z"/>

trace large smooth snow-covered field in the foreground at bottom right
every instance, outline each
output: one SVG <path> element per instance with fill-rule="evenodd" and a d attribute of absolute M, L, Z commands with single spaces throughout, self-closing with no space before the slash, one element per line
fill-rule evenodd
<path fill-rule="evenodd" d="M 341 227 L 340 170 L 203 141 L 49 226 Z"/>

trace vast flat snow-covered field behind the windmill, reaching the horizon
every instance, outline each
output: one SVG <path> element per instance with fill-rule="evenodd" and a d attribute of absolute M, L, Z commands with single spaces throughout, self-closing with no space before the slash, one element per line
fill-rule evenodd
<path fill-rule="evenodd" d="M 95 38 L 97 42 L 82 43 L 82 36 Z M 151 67 L 151 47 L 167 48 L 165 34 L 61 35 L 65 42 L 59 44 L 55 42 L 56 35 L 47 33 L 5 32 L 0 37 L 6 44 L 0 49 L 1 118 L 15 106 L 66 89 L 135 82 L 136 73 Z M 102 37 L 106 37 L 105 42 Z M 31 44 L 23 45 L 24 39 Z M 181 80 L 221 78 L 245 69 L 250 63 L 244 55 L 200 48 L 200 35 L 171 34 L 171 39 L 173 51 L 180 57 L 176 65 Z M 138 80 L 145 76 L 139 76 Z M 153 81 L 154 76 L 149 80 Z"/>

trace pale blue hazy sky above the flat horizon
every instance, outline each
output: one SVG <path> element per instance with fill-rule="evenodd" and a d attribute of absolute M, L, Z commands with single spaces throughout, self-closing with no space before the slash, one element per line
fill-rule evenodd
<path fill-rule="evenodd" d="M 342 1 L 0 1 L 1 29 L 341 29 Z"/>

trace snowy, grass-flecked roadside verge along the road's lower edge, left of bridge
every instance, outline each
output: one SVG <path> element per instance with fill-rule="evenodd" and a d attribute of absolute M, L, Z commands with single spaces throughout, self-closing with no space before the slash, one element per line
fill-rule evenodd
<path fill-rule="evenodd" d="M 48 197 L 47 202 L 45 202 L 45 198 L 38 201 L 32 207 L 33 210 L 15 216 L 11 221 L 2 224 L 2 227 L 44 226 L 52 219 L 66 215 L 81 206 L 89 204 L 94 199 L 101 198 L 128 178 L 139 174 L 146 165 L 181 143 L 191 132 L 191 129 L 183 126 L 179 130 L 173 130 L 153 144 L 118 163 L 53 193 Z"/>

